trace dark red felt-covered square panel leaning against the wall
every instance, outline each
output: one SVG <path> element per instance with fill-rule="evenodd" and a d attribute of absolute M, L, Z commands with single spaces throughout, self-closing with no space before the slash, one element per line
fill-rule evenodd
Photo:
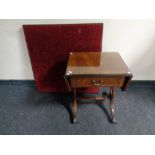
<path fill-rule="evenodd" d="M 63 76 L 70 52 L 102 50 L 101 23 L 23 25 L 23 29 L 36 86 L 42 92 L 68 91 Z"/>

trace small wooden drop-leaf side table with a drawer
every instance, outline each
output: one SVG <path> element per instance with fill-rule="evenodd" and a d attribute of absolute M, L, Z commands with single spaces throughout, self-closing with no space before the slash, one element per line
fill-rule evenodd
<path fill-rule="evenodd" d="M 73 123 L 77 121 L 77 100 L 110 100 L 111 120 L 115 123 L 115 88 L 123 91 L 133 75 L 118 52 L 71 52 L 64 76 L 66 86 L 74 93 Z M 77 97 L 77 88 L 109 87 L 102 96 Z"/>

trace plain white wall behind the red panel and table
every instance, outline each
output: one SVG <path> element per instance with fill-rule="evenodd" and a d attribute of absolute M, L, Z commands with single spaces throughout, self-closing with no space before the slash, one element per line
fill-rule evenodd
<path fill-rule="evenodd" d="M 155 20 L 0 20 L 0 79 L 34 79 L 23 24 L 103 22 L 103 51 L 118 51 L 134 80 L 155 80 Z"/>

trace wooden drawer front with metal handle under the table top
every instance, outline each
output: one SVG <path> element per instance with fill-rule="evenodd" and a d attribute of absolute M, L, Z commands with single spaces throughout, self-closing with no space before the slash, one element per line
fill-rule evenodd
<path fill-rule="evenodd" d="M 124 83 L 123 77 L 118 78 L 90 78 L 90 77 L 72 77 L 71 87 L 122 87 Z"/>

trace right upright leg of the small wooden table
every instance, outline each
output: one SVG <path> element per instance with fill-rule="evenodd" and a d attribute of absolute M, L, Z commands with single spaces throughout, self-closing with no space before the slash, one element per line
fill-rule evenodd
<path fill-rule="evenodd" d="M 111 119 L 113 123 L 116 123 L 115 121 L 115 104 L 114 104 L 114 95 L 115 95 L 115 87 L 110 88 L 110 109 L 111 109 Z"/>

